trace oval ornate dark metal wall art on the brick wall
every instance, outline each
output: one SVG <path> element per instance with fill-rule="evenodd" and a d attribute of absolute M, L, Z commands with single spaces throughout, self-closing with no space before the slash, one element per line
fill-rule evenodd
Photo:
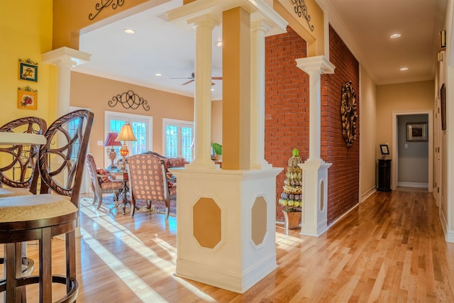
<path fill-rule="evenodd" d="M 342 86 L 341 119 L 342 136 L 345 143 L 347 143 L 347 147 L 350 148 L 356 139 L 356 120 L 358 119 L 356 93 L 353 90 L 351 81 Z"/>

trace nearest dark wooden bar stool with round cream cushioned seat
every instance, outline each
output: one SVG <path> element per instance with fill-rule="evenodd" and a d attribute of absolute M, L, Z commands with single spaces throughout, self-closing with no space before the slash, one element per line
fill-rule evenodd
<path fill-rule="evenodd" d="M 0 280 L 0 292 L 6 292 L 6 302 L 20 301 L 23 287 L 33 283 L 39 284 L 39 302 L 52 302 L 52 282 L 66 285 L 66 295 L 58 302 L 77 298 L 75 228 L 93 118 L 91 111 L 78 110 L 52 123 L 39 150 L 40 194 L 0 199 L 0 243 L 6 243 L 6 278 Z M 64 276 L 52 275 L 52 237 L 60 234 L 66 242 Z M 21 242 L 33 240 L 39 244 L 39 275 L 23 277 Z"/>

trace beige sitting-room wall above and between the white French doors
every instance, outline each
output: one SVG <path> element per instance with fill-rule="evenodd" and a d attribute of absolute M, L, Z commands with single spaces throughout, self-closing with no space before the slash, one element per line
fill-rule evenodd
<path fill-rule="evenodd" d="M 150 111 L 125 109 L 121 104 L 110 107 L 108 102 L 116 94 L 133 90 L 148 101 Z M 104 163 L 105 148 L 96 144 L 104 142 L 104 111 L 117 111 L 127 114 L 153 116 L 153 150 L 162 153 L 162 119 L 194 121 L 194 99 L 134 84 L 118 82 L 101 77 L 71 73 L 71 106 L 83 107 L 94 112 L 94 126 L 90 138 L 89 151 L 94 154 L 96 164 Z"/>

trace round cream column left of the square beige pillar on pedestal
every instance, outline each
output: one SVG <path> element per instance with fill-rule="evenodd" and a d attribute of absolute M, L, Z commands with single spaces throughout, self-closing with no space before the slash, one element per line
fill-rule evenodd
<path fill-rule="evenodd" d="M 188 169 L 216 168 L 211 160 L 211 48 L 214 26 L 218 21 L 209 15 L 188 20 L 196 30 L 194 91 L 194 154 Z"/>

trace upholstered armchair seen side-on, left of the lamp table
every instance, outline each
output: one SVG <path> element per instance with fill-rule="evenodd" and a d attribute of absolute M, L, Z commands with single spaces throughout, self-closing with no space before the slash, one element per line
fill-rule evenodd
<path fill-rule="evenodd" d="M 123 192 L 123 181 L 111 180 L 109 179 L 109 176 L 99 174 L 96 162 L 94 162 L 91 153 L 87 154 L 85 164 L 87 164 L 90 180 L 92 182 L 92 190 L 94 193 L 93 205 L 96 204 L 96 209 L 101 208 L 103 194 L 114 194 L 114 201 L 117 201 L 118 194 Z"/>

